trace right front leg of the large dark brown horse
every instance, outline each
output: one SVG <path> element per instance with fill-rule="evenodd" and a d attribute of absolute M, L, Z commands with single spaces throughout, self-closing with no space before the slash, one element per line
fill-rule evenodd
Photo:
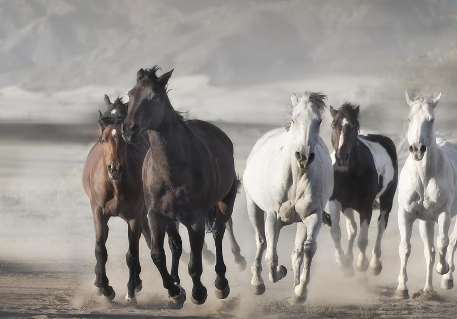
<path fill-rule="evenodd" d="M 205 216 L 206 217 L 206 216 Z M 199 221 L 187 228 L 190 243 L 189 275 L 192 278 L 193 288 L 190 300 L 197 305 L 204 304 L 208 297 L 205 286 L 201 281 L 202 249 L 205 240 L 205 222 Z"/>

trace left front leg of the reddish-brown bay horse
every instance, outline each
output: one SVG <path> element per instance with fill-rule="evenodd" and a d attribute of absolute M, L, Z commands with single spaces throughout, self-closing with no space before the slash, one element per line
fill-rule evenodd
<path fill-rule="evenodd" d="M 116 296 L 113 287 L 109 286 L 108 277 L 106 275 L 106 262 L 108 261 L 108 252 L 106 250 L 106 240 L 108 239 L 108 220 L 102 212 L 102 208 L 92 204 L 93 226 L 95 229 L 95 294 L 103 295 L 105 299 L 112 301 Z"/>

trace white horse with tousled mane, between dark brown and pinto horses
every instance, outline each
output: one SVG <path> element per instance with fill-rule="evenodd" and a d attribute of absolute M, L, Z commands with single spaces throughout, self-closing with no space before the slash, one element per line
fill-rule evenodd
<path fill-rule="evenodd" d="M 262 136 L 247 159 L 243 184 L 257 243 L 251 267 L 255 295 L 265 292 L 260 272 L 266 248 L 270 280 L 276 282 L 286 275 L 286 268 L 278 266 L 276 244 L 282 226 L 298 223 L 292 252 L 295 282 L 292 300 L 297 303 L 306 301 L 322 212 L 333 191 L 332 160 L 319 136 L 326 99 L 320 93 L 305 92 L 301 98 L 293 94 L 290 126 Z M 267 213 L 266 221 L 264 212 Z M 300 276 L 303 256 L 305 266 Z"/>

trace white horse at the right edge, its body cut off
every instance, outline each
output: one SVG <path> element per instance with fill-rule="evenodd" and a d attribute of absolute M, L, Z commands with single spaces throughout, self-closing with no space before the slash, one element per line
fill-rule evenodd
<path fill-rule="evenodd" d="M 453 265 L 457 227 L 454 227 L 449 244 L 450 219 L 457 212 L 457 144 L 450 143 L 435 135 L 435 108 L 441 93 L 433 96 L 410 99 L 409 104 L 408 143 L 411 156 L 406 160 L 399 180 L 398 225 L 401 242 L 399 246 L 400 274 L 398 276 L 397 296 L 409 298 L 406 281 L 406 264 L 411 252 L 411 229 L 414 221 L 419 219 L 420 236 L 424 243 L 424 254 L 427 263 L 427 277 L 424 293 L 433 291 L 432 268 L 435 263 L 433 233 L 438 223 L 437 238 L 440 258 L 436 265 L 439 274 L 449 271 Z M 449 259 L 445 260 L 449 245 Z M 450 289 L 453 286 L 452 273 L 445 277 L 441 287 Z"/>

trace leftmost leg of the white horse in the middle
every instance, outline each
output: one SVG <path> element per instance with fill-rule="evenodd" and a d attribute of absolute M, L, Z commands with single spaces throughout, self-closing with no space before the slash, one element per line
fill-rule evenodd
<path fill-rule="evenodd" d="M 249 220 L 255 231 L 255 243 L 257 251 L 255 253 L 254 262 L 251 266 L 252 280 L 251 289 L 254 295 L 262 295 L 265 292 L 264 279 L 262 279 L 262 256 L 264 255 L 267 239 L 265 238 L 265 218 L 264 211 L 260 209 L 246 192 L 247 211 Z"/>

